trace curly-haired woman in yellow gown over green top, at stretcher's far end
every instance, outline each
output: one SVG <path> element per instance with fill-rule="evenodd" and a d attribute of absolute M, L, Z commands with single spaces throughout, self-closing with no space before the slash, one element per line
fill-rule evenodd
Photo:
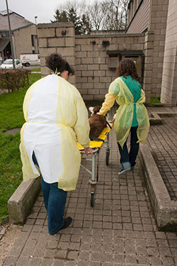
<path fill-rule="evenodd" d="M 135 62 L 122 60 L 118 65 L 118 78 L 109 87 L 108 94 L 98 114 L 105 113 L 117 101 L 119 108 L 113 119 L 120 151 L 122 168 L 118 174 L 133 170 L 139 150 L 139 142 L 145 143 L 149 132 L 149 117 L 144 106 L 145 94 L 137 81 Z M 127 150 L 127 138 L 131 133 L 130 153 Z"/>

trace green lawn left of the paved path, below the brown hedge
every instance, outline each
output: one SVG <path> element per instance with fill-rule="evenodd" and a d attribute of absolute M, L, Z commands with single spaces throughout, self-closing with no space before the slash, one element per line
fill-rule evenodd
<path fill-rule="evenodd" d="M 5 135 L 4 131 L 23 125 L 23 99 L 28 87 L 40 79 L 30 75 L 30 84 L 16 92 L 0 95 L 0 223 L 8 218 L 7 201 L 22 181 L 20 133 Z"/>

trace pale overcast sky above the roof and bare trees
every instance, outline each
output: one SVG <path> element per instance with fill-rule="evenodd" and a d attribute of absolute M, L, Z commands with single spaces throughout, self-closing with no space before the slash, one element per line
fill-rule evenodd
<path fill-rule="evenodd" d="M 55 11 L 59 4 L 66 0 L 7 0 L 8 9 L 35 23 L 50 23 L 54 19 Z M 91 0 L 94 1 L 94 0 Z M 6 10 L 6 0 L 0 0 L 0 11 Z"/>

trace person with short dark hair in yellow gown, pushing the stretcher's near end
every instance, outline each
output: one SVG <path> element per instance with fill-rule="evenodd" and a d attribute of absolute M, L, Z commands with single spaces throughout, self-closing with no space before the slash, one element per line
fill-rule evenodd
<path fill-rule="evenodd" d="M 25 123 L 21 129 L 23 179 L 42 176 L 42 194 L 51 235 L 66 228 L 72 218 L 63 218 L 67 192 L 76 188 L 81 155 L 76 138 L 89 148 L 88 111 L 79 91 L 68 82 L 74 70 L 61 55 L 46 58 L 52 74 L 35 82 L 23 102 Z M 36 165 L 38 167 L 36 167 Z"/>

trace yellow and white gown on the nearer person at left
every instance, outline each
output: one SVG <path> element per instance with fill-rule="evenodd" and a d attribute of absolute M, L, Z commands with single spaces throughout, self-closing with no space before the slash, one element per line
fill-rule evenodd
<path fill-rule="evenodd" d="M 79 91 L 57 74 L 35 82 L 23 102 L 26 123 L 21 128 L 23 179 L 39 176 L 32 154 L 47 183 L 58 182 L 65 191 L 76 188 L 81 155 L 76 138 L 90 145 L 88 111 Z"/>

